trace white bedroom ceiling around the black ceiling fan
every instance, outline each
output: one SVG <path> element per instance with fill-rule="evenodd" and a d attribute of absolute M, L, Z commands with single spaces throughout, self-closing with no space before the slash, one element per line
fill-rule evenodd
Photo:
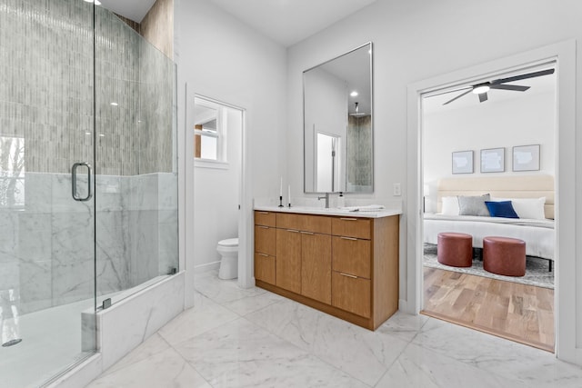
<path fill-rule="evenodd" d="M 468 95 L 464 95 L 464 96 L 460 97 L 459 99 L 453 101 L 450 104 L 444 105 L 447 101 L 449 101 L 449 100 L 455 98 L 457 95 L 460 95 L 463 92 L 467 91 L 467 89 L 468 89 L 468 87 L 470 87 L 470 85 L 475 85 L 475 84 L 479 84 L 481 82 L 486 82 L 486 81 L 493 81 L 493 80 L 498 79 L 498 78 L 505 78 L 508 76 L 521 75 L 521 74 L 531 73 L 531 72 L 538 71 L 538 70 L 545 70 L 545 69 L 551 68 L 551 67 L 553 67 L 553 66 L 546 65 L 546 66 L 541 66 L 541 67 L 536 67 L 536 68 L 528 68 L 527 70 L 521 70 L 521 71 L 517 71 L 517 72 L 492 76 L 492 77 L 487 78 L 487 79 L 471 81 L 470 84 L 458 85 L 454 88 L 451 88 L 448 91 L 447 90 L 437 91 L 433 95 L 429 94 L 428 96 L 425 96 L 425 98 L 423 99 L 423 111 L 426 114 L 432 114 L 432 113 L 437 113 L 437 112 L 444 112 L 447 110 L 463 109 L 463 108 L 467 108 L 467 107 L 478 106 L 479 104 L 487 104 L 487 103 L 488 104 L 495 104 L 495 103 L 500 102 L 500 101 L 508 101 L 508 100 L 517 99 L 517 98 L 524 98 L 524 97 L 528 97 L 530 95 L 553 93 L 556 90 L 556 73 L 554 73 L 553 75 L 544 75 L 544 76 L 539 76 L 536 78 L 528 78 L 528 79 L 508 83 L 508 85 L 530 86 L 530 88 L 527 89 L 527 91 L 525 91 L 525 92 L 513 92 L 513 91 L 507 91 L 507 90 L 491 89 L 487 92 L 488 100 L 484 103 L 479 102 L 479 97 L 477 95 L 469 93 Z"/>

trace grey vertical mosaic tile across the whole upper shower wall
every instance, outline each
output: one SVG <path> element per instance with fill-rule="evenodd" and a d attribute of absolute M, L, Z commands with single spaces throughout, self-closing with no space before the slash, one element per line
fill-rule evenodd
<path fill-rule="evenodd" d="M 95 7 L 94 81 L 93 26 L 90 3 L 0 0 L 0 138 L 25 140 L 28 172 L 171 172 L 172 61 Z"/>

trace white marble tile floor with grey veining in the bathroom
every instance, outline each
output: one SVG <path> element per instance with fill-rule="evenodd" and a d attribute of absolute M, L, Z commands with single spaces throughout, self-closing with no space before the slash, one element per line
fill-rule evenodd
<path fill-rule="evenodd" d="M 216 272 L 196 275 L 195 307 L 88 387 L 580 387 L 554 354 L 424 315 L 376 332 Z"/>

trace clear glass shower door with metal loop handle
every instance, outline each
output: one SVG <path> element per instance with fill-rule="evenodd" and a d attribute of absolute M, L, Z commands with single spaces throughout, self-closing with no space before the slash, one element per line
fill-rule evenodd
<path fill-rule="evenodd" d="M 94 85 L 92 3 L 0 0 L 0 387 L 95 351 Z"/>

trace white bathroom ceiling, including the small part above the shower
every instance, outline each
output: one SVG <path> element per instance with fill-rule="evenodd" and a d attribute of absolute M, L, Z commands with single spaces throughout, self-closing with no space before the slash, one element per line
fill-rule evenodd
<path fill-rule="evenodd" d="M 100 0 L 141 22 L 156 0 Z M 184 0 L 188 1 L 188 0 Z M 295 45 L 376 0 L 206 0 L 280 45 Z"/>

